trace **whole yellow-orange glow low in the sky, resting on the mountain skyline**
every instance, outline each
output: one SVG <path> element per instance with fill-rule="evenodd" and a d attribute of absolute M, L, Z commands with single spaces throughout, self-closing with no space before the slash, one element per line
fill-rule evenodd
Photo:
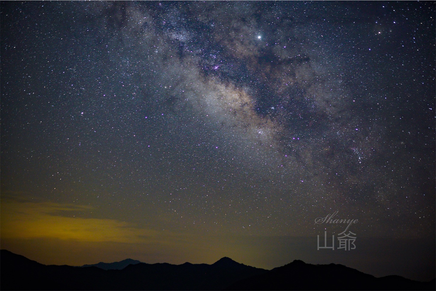
<path fill-rule="evenodd" d="M 253 264 L 252 254 L 259 253 L 258 247 L 229 236 L 157 231 L 115 219 L 74 215 L 91 210 L 91 207 L 74 204 L 2 198 L 2 249 L 42 264 L 69 265 L 126 258 L 147 263 L 211 264 L 224 256 Z"/>

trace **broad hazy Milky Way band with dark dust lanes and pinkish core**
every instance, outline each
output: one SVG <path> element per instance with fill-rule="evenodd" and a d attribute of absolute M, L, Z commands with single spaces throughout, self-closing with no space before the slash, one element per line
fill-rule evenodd
<path fill-rule="evenodd" d="M 223 151 L 273 180 L 333 183 L 353 199 L 378 195 L 368 187 L 389 175 L 377 164 L 388 128 L 346 85 L 340 56 L 305 45 L 298 30 L 310 28 L 293 4 L 100 5 L 92 13 L 117 52 L 116 73 L 139 87 L 147 107 L 188 128 L 208 124 Z"/>

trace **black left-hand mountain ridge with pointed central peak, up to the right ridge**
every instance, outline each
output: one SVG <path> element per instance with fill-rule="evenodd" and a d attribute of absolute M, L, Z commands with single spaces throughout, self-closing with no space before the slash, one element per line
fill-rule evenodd
<path fill-rule="evenodd" d="M 1 290 L 223 290 L 267 272 L 229 258 L 211 265 L 129 264 L 122 270 L 46 266 L 7 250 L 0 258 Z"/>

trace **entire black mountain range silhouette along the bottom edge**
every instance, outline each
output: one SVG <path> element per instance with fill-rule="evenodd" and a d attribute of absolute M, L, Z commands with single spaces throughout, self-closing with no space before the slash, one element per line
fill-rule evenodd
<path fill-rule="evenodd" d="M 340 264 L 303 261 L 271 271 L 227 257 L 214 264 L 138 263 L 103 270 L 95 266 L 47 266 L 7 250 L 0 251 L 0 258 L 1 290 L 435 290 L 435 280 L 422 283 L 400 276 L 375 278 Z M 125 261 L 129 262 L 121 262 Z"/>

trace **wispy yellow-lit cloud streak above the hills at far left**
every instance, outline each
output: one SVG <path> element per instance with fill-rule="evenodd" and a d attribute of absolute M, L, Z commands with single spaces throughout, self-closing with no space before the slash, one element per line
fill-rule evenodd
<path fill-rule="evenodd" d="M 2 238 L 58 238 L 89 242 L 142 243 L 153 241 L 155 231 L 114 219 L 74 217 L 91 207 L 2 198 Z"/>

